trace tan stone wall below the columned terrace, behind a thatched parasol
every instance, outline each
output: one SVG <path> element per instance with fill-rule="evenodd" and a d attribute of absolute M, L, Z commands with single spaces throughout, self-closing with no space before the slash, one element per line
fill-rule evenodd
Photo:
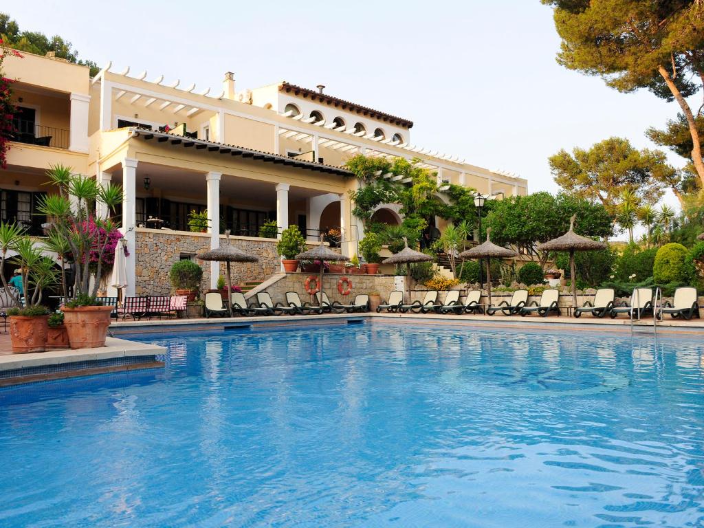
<path fill-rule="evenodd" d="M 220 236 L 221 244 L 225 235 Z M 210 249 L 207 233 L 184 233 L 169 230 L 137 229 L 136 275 L 137 295 L 168 295 L 171 291 L 169 270 L 181 253 L 197 254 Z M 272 239 L 230 237 L 230 244 L 259 257 L 256 263 L 233 263 L 232 284 L 261 281 L 279 271 L 276 241 Z M 210 288 L 210 263 L 196 260 L 203 268 L 201 291 Z M 220 274 L 226 277 L 225 263 Z"/>

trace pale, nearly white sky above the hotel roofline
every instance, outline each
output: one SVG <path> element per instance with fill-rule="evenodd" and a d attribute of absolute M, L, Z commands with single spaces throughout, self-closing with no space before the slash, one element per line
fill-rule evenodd
<path fill-rule="evenodd" d="M 560 39 L 539 0 L 87 0 L 0 8 L 20 29 L 61 34 L 80 58 L 219 93 L 282 80 L 413 120 L 411 142 L 558 191 L 548 156 L 612 136 L 639 149 L 677 115 L 646 91 L 621 94 L 555 61 Z M 695 96 L 693 104 L 700 104 Z M 670 155 L 674 165 L 684 160 Z M 665 201 L 677 205 L 668 194 Z"/>

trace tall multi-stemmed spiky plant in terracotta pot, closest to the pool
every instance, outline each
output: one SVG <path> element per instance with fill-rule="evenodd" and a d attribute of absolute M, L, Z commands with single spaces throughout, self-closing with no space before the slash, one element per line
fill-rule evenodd
<path fill-rule="evenodd" d="M 46 172 L 57 194 L 39 199 L 39 213 L 54 219 L 49 236 L 68 242 L 68 258 L 75 266 L 73 298 L 63 307 L 64 325 L 71 348 L 105 346 L 112 306 L 96 300 L 101 278 L 111 270 L 115 252 L 125 251 L 118 244 L 122 234 L 112 216 L 122 202 L 122 189 L 100 185 L 94 178 L 73 174 L 63 165 L 54 165 Z M 96 205 L 106 206 L 106 218 L 95 213 Z"/>

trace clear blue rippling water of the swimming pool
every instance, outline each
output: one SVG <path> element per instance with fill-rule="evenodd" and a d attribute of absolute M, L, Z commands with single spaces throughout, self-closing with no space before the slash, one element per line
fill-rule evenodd
<path fill-rule="evenodd" d="M 344 325 L 140 338 L 0 390 L 1 527 L 703 527 L 703 340 Z"/>

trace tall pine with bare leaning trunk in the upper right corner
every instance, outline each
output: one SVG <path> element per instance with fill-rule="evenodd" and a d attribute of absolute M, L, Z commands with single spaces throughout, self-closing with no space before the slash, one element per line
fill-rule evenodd
<path fill-rule="evenodd" d="M 686 97 L 704 83 L 701 0 L 541 0 L 553 6 L 562 43 L 558 63 L 602 77 L 620 92 L 645 88 L 676 100 L 692 138 L 704 187 L 700 132 Z"/>

